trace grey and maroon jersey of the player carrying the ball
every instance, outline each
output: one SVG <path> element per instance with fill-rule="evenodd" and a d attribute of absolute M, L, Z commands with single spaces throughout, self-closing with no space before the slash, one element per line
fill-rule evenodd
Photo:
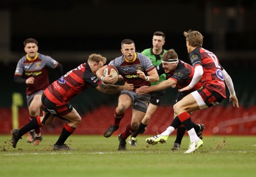
<path fill-rule="evenodd" d="M 110 61 L 109 65 L 116 67 L 118 73 L 124 78 L 124 82 L 134 85 L 134 91 L 141 86 L 150 86 L 150 82 L 141 79 L 136 71 L 141 70 L 147 75 L 147 72 L 155 68 L 150 58 L 137 52 L 132 62 L 126 61 L 124 56 L 120 56 Z"/>

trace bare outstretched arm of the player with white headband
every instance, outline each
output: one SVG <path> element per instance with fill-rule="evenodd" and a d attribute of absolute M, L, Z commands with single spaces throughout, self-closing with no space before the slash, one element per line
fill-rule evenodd
<path fill-rule="evenodd" d="M 175 82 L 173 79 L 168 79 L 162 82 L 159 82 L 158 84 L 154 86 L 141 86 L 140 88 L 136 89 L 136 93 L 138 94 L 147 94 L 152 91 L 159 91 L 166 88 L 170 88 L 173 86 L 176 86 L 177 82 Z"/>

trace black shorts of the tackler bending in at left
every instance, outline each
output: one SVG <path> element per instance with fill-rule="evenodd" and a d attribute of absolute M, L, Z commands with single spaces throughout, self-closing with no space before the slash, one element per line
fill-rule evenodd
<path fill-rule="evenodd" d="M 42 109 L 45 112 L 50 112 L 54 116 L 61 118 L 61 115 L 66 115 L 70 113 L 73 110 L 73 107 L 70 104 L 56 105 L 53 102 L 51 102 L 43 93 Z"/>

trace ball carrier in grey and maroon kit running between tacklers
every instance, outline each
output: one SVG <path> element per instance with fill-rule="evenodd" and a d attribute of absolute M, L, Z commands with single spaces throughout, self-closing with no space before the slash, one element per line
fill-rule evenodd
<path fill-rule="evenodd" d="M 159 76 L 150 59 L 143 54 L 135 52 L 135 43 L 133 40 L 123 40 L 121 42 L 121 52 L 123 55 L 110 61 L 109 65 L 116 67 L 125 82 L 134 84 L 134 90 L 121 91 L 118 97 L 118 106 L 115 110 L 114 123 L 106 130 L 104 137 L 108 138 L 113 132 L 118 130 L 125 111 L 132 105 L 131 123 L 129 123 L 125 131 L 118 136 L 118 150 L 126 150 L 125 140 L 132 132 L 138 129 L 150 101 L 150 94 L 138 95 L 135 89 L 141 86 L 150 86 L 150 82 L 159 81 Z M 106 66 L 100 68 L 97 72 L 97 77 L 111 84 L 111 81 L 109 81 L 107 77 L 102 77 L 105 68 Z"/>

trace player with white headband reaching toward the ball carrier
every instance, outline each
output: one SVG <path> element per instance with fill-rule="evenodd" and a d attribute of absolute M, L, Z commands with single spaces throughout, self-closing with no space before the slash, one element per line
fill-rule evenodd
<path fill-rule="evenodd" d="M 167 52 L 165 52 L 162 56 L 161 61 L 162 63 L 159 66 L 157 66 L 157 73 L 159 75 L 161 75 L 162 73 L 166 73 L 166 80 L 159 82 L 159 84 L 156 84 L 154 86 L 142 86 L 141 88 L 136 89 L 136 93 L 147 94 L 151 91 L 159 91 L 166 88 L 183 88 L 191 82 L 194 73 L 194 68 L 188 63 L 184 63 L 183 61 L 181 61 L 175 50 L 170 49 Z M 202 82 L 197 82 L 194 88 L 190 91 L 178 92 L 176 102 L 179 102 L 179 100 L 181 100 L 184 96 L 188 95 L 188 93 L 191 93 L 191 91 L 195 91 L 196 89 L 199 89 L 201 87 Z M 176 115 L 174 114 L 174 118 L 175 117 Z M 195 128 L 198 137 L 202 139 L 204 125 L 196 125 L 195 123 L 193 123 L 193 127 Z M 180 150 L 180 144 L 185 132 L 186 128 L 184 128 L 183 126 L 177 128 L 177 137 L 175 139 L 172 150 Z M 164 143 L 167 141 L 167 139 L 168 135 L 160 134 L 154 137 L 149 137 L 146 139 L 146 141 L 148 142 L 148 144 L 154 145 L 159 142 Z"/>

